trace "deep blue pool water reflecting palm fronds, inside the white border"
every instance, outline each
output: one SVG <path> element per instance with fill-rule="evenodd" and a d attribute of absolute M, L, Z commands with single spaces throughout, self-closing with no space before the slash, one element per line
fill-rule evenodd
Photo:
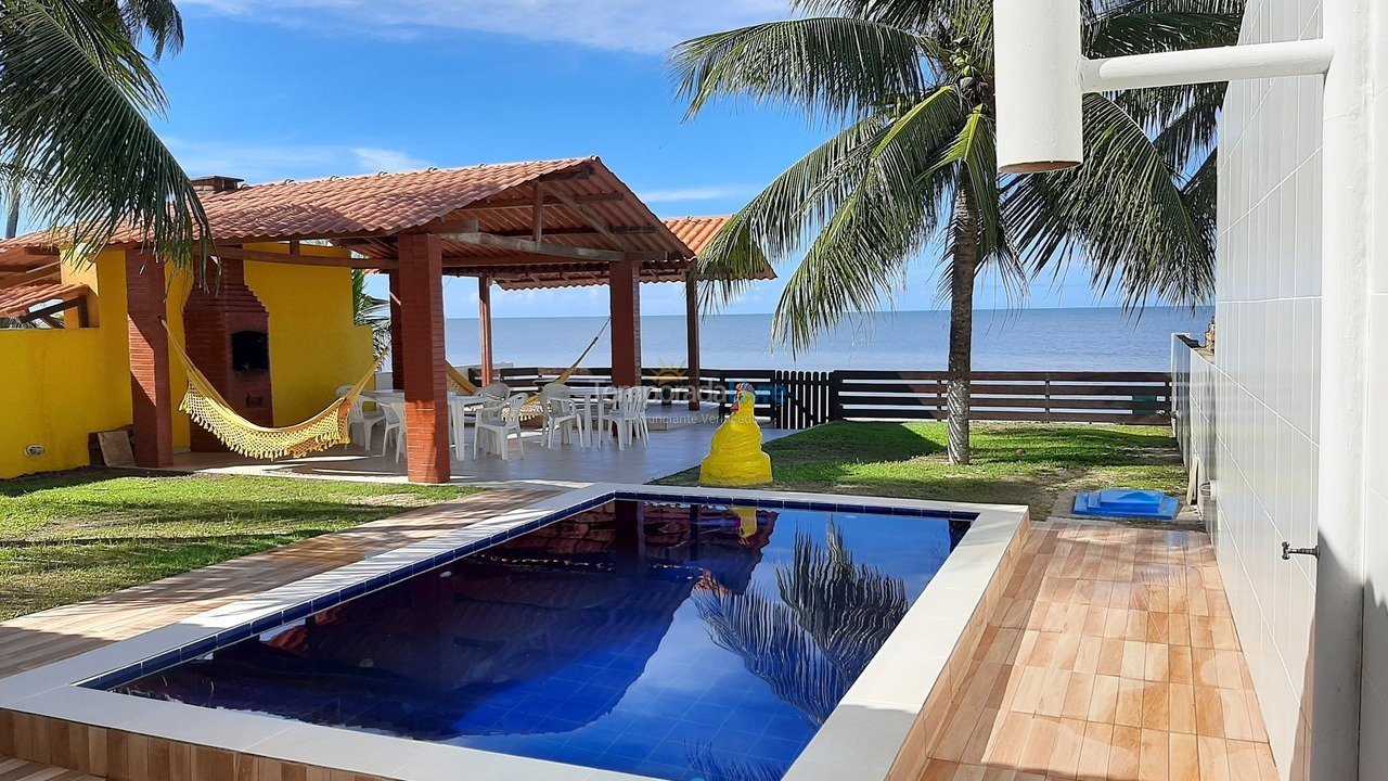
<path fill-rule="evenodd" d="M 114 691 L 655 778 L 776 780 L 966 528 L 615 500 Z"/>

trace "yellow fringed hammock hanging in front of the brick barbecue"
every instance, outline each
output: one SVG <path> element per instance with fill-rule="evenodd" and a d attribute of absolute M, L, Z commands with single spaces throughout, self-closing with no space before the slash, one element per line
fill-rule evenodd
<path fill-rule="evenodd" d="M 165 328 L 168 328 L 168 324 L 165 324 Z M 246 420 L 226 403 L 226 399 L 217 392 L 217 388 L 212 386 L 207 377 L 193 365 L 192 359 L 183 352 L 183 346 L 178 343 L 178 339 L 172 338 L 172 334 L 169 335 L 169 346 L 174 347 L 174 354 L 183 361 L 183 368 L 187 370 L 187 393 L 183 395 L 183 403 L 178 409 L 187 413 L 187 417 L 193 418 L 194 422 L 212 432 L 232 452 L 250 459 L 269 460 L 286 456 L 301 457 L 326 450 L 335 445 L 348 443 L 347 427 L 351 407 L 357 403 L 357 397 L 366 388 L 366 384 L 371 382 L 371 378 L 376 375 L 380 361 L 384 360 L 384 356 L 378 357 L 372 363 L 371 371 L 358 379 L 346 396 L 328 404 L 328 409 L 310 420 L 285 428 L 265 428 Z"/>

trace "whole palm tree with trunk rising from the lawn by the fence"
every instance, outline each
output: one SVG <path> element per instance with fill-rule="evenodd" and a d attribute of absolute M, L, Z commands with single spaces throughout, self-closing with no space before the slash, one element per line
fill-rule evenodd
<path fill-rule="evenodd" d="M 1076 0 L 1091 57 L 1237 43 L 1244 0 Z M 936 249 L 949 310 L 949 460 L 969 461 L 973 292 L 991 270 L 1020 300 L 1070 261 L 1128 307 L 1213 288 L 1214 133 L 1223 85 L 1091 94 L 1084 168 L 999 176 L 991 0 L 791 0 L 802 14 L 679 44 L 688 117 L 716 99 L 804 111 L 834 135 L 743 208 L 701 256 L 712 304 L 761 246 L 799 256 L 772 336 L 801 350 L 881 309 Z M 741 274 L 738 274 L 741 272 Z"/>

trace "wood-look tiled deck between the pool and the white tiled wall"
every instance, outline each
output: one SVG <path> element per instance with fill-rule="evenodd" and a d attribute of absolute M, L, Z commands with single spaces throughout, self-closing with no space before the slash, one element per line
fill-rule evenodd
<path fill-rule="evenodd" d="M 1035 524 L 929 781 L 1276 781 L 1209 536 Z"/>

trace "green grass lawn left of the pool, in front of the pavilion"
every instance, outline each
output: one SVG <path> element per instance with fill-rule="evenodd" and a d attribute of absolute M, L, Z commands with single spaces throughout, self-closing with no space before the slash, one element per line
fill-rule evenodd
<path fill-rule="evenodd" d="M 0 481 L 0 620 L 476 491 L 100 470 Z"/>

